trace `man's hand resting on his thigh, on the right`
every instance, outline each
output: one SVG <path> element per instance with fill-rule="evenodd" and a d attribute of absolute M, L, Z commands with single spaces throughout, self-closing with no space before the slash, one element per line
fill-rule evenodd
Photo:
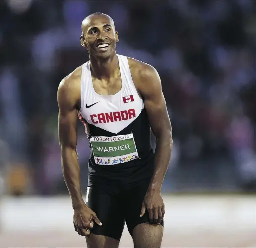
<path fill-rule="evenodd" d="M 149 213 L 149 221 L 160 224 L 164 218 L 164 202 L 160 191 L 147 191 L 142 202 L 140 217 L 145 214 L 146 209 Z"/>

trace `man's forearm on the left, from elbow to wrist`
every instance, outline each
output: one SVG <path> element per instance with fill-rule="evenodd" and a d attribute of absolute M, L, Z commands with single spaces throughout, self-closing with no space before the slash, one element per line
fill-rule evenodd
<path fill-rule="evenodd" d="M 61 149 L 62 172 L 72 199 L 73 208 L 78 208 L 84 204 L 81 191 L 81 175 L 78 156 L 75 149 Z"/>

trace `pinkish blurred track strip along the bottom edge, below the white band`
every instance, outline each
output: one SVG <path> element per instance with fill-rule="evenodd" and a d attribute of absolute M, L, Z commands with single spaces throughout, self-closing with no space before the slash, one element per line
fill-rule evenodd
<path fill-rule="evenodd" d="M 71 232 L 15 232 L 0 235 L 0 247 L 86 247 L 85 238 Z M 127 229 L 119 247 L 133 247 Z M 218 232 L 217 230 L 165 229 L 162 247 L 255 247 L 255 231 Z"/>

